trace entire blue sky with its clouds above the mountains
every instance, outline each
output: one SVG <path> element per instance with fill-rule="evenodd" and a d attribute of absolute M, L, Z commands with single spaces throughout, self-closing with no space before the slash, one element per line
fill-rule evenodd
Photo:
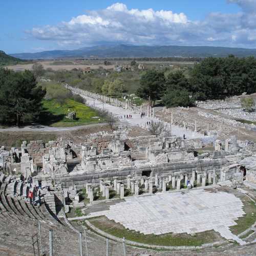
<path fill-rule="evenodd" d="M 0 17 L 7 53 L 106 42 L 256 48 L 256 0 L 9 0 Z"/>

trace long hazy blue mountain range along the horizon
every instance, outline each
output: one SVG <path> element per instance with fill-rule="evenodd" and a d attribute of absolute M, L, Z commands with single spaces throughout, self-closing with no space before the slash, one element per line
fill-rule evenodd
<path fill-rule="evenodd" d="M 54 50 L 37 53 L 10 54 L 20 59 L 56 58 L 136 58 L 136 57 L 238 57 L 255 56 L 256 49 L 211 47 L 211 46 L 94 46 L 77 50 Z"/>

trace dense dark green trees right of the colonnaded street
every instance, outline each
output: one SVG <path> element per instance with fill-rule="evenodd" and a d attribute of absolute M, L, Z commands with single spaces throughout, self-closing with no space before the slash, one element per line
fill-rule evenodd
<path fill-rule="evenodd" d="M 223 99 L 256 92 L 256 59 L 254 57 L 209 57 L 195 64 L 189 76 L 177 71 L 167 76 L 147 71 L 140 79 L 137 94 L 151 105 L 162 100 L 167 107 L 191 106 L 196 100 Z"/>

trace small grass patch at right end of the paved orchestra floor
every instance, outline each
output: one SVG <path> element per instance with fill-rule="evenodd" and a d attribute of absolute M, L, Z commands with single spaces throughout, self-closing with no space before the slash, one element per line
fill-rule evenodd
<path fill-rule="evenodd" d="M 237 225 L 231 226 L 230 230 L 233 234 L 240 234 L 254 224 L 256 221 L 256 205 L 248 197 L 240 198 L 244 204 L 244 211 L 246 215 L 239 218 L 236 222 Z"/>

